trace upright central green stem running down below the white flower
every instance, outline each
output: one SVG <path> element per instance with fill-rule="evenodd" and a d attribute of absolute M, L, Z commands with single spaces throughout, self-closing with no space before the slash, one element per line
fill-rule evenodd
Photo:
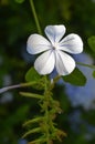
<path fill-rule="evenodd" d="M 52 89 L 54 88 L 54 84 L 61 79 L 61 75 L 56 75 L 53 81 L 50 83 L 46 75 L 45 75 L 45 90 L 44 90 L 44 101 L 43 101 L 43 105 L 44 105 L 44 117 L 45 117 L 45 135 L 46 135 L 46 144 L 51 143 L 51 132 L 54 132 L 54 125 L 53 125 L 53 120 L 51 116 L 53 116 L 56 112 L 54 112 L 54 107 L 55 105 L 51 106 L 51 103 L 53 104 L 53 99 L 51 99 L 50 96 L 52 95 Z M 50 113 L 50 106 L 51 106 L 51 112 L 53 110 L 53 113 L 51 115 Z M 56 109 L 56 106 L 55 106 Z M 61 110 L 60 110 L 61 111 Z M 51 137 L 51 138 L 50 138 Z"/>

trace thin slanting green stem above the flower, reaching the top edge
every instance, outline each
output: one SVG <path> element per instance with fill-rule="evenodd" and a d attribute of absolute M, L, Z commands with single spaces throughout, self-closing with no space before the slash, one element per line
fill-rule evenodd
<path fill-rule="evenodd" d="M 35 20 L 35 24 L 36 24 L 38 32 L 39 32 L 40 34 L 42 34 L 41 27 L 40 27 L 40 22 L 39 22 L 36 12 L 35 12 L 35 8 L 34 8 L 33 0 L 30 0 L 30 4 L 31 4 L 31 9 L 32 9 L 33 17 L 34 17 L 34 20 Z"/>

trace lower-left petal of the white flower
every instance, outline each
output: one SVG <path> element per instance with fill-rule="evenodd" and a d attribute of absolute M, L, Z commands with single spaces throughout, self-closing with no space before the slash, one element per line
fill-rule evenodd
<path fill-rule="evenodd" d="M 34 62 L 35 70 L 44 75 L 53 71 L 55 64 L 55 58 L 53 50 L 49 50 L 41 54 Z"/>

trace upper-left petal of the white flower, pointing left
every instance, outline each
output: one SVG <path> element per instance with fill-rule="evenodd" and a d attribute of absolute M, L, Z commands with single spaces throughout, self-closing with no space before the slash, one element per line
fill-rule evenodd
<path fill-rule="evenodd" d="M 40 34 L 31 34 L 28 39 L 27 50 L 30 54 L 36 54 L 51 49 L 51 43 Z"/>

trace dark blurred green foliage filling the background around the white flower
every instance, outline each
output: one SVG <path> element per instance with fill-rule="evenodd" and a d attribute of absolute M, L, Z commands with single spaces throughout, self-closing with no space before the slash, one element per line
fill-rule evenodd
<path fill-rule="evenodd" d="M 84 51 L 92 58 L 95 53 L 87 45 L 87 38 L 95 35 L 95 1 L 94 0 L 34 0 L 36 13 L 42 31 L 48 24 L 65 24 L 67 32 L 78 33 L 84 40 Z M 29 0 L 1 0 L 0 1 L 0 88 L 8 83 L 14 84 L 24 81 L 24 75 L 33 61 L 27 61 L 25 45 L 31 33 L 38 32 Z M 44 33 L 44 32 L 43 32 Z M 6 75 L 11 82 L 4 82 Z M 94 73 L 95 75 L 95 73 Z M 0 95 L 0 144 L 18 144 L 23 134 L 22 123 L 36 115 L 40 111 L 35 100 L 21 97 L 19 91 L 11 91 L 12 100 L 2 102 L 4 94 Z M 35 91 L 25 89 L 25 91 Z M 82 123 L 80 133 L 71 128 L 68 115 L 75 110 L 71 106 L 64 94 L 64 86 L 54 89 L 55 99 L 61 101 L 63 114 L 57 116 L 59 127 L 67 133 L 63 141 L 65 144 L 94 144 L 93 138 L 85 138 L 86 126 Z M 8 94 L 8 93 L 6 93 Z M 59 96 L 57 96 L 59 95 Z M 95 126 L 95 111 L 82 112 L 82 119 Z M 59 142 L 55 142 L 59 144 Z"/>

